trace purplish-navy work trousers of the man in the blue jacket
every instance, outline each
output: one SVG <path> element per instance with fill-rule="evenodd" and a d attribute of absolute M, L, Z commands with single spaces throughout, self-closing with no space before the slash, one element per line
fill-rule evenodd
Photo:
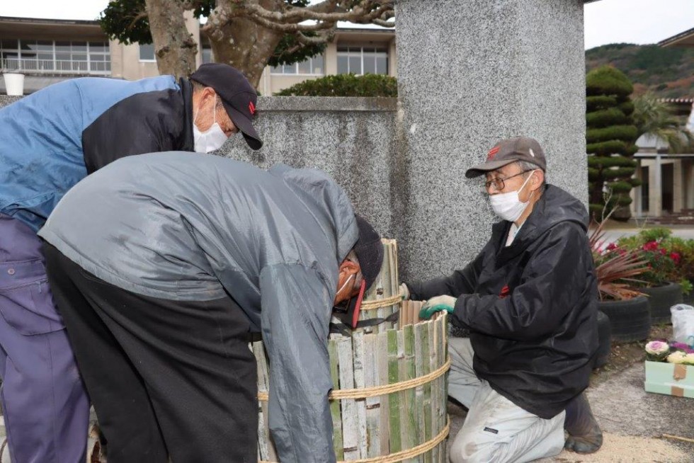
<path fill-rule="evenodd" d="M 41 241 L 0 214 L 1 399 L 13 462 L 86 458 L 89 398 L 48 287 Z"/>

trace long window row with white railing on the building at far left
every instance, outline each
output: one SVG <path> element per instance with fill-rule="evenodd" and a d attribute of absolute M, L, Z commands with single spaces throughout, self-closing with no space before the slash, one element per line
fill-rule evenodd
<path fill-rule="evenodd" d="M 108 42 L 0 40 L 0 68 L 25 72 L 108 74 Z"/>

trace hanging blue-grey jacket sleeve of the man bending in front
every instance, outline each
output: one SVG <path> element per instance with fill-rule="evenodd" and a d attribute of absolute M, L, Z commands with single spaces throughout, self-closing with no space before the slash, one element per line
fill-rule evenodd
<path fill-rule="evenodd" d="M 263 268 L 263 341 L 270 359 L 269 425 L 283 463 L 332 463 L 328 355 L 333 293 L 303 265 Z"/>

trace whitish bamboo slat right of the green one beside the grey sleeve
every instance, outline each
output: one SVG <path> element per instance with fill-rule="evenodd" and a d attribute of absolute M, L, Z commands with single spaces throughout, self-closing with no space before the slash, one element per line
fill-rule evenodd
<path fill-rule="evenodd" d="M 342 337 L 337 342 L 337 355 L 340 362 L 340 389 L 354 387 L 352 362 L 352 339 Z M 359 459 L 358 418 L 354 399 L 341 399 L 342 405 L 342 448 L 344 459 Z"/>

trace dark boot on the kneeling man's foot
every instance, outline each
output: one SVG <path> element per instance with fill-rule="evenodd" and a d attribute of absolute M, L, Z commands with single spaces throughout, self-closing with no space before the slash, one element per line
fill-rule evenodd
<path fill-rule="evenodd" d="M 576 396 L 567 406 L 564 429 L 569 433 L 564 448 L 576 453 L 597 452 L 603 445 L 603 432 L 593 417 L 585 394 Z"/>

